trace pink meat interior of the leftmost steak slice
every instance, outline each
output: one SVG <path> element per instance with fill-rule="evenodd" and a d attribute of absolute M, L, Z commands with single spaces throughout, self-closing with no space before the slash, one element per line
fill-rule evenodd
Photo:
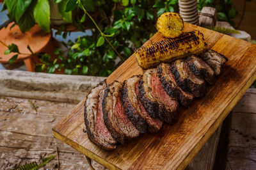
<path fill-rule="evenodd" d="M 103 94 L 101 92 L 100 97 L 99 97 L 99 103 L 98 103 L 96 127 L 97 127 L 98 133 L 101 135 L 101 137 L 104 137 L 104 139 L 106 141 L 108 141 L 109 144 L 114 144 L 116 142 L 113 139 L 113 137 L 111 136 L 110 132 L 108 131 L 108 128 L 106 127 L 104 120 L 103 120 L 102 99 L 103 99 Z"/>

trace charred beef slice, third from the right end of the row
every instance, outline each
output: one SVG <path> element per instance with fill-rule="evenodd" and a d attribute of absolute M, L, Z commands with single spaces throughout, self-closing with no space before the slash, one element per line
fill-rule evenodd
<path fill-rule="evenodd" d="M 171 64 L 175 81 L 184 91 L 191 92 L 195 97 L 205 95 L 205 81 L 194 75 L 183 59 L 177 59 Z"/>

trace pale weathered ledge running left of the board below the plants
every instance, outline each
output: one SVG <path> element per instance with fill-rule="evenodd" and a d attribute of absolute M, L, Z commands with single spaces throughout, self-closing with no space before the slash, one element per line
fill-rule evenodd
<path fill-rule="evenodd" d="M 0 95 L 77 104 L 106 77 L 0 70 Z"/>

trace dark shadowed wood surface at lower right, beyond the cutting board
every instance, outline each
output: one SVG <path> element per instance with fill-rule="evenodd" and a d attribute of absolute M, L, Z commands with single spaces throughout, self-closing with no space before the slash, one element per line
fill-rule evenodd
<path fill-rule="evenodd" d="M 231 112 L 226 169 L 256 168 L 256 89 L 249 89 Z"/>

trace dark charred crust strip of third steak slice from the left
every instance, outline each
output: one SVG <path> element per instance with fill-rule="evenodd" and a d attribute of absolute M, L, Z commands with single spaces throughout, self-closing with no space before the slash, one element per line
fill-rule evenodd
<path fill-rule="evenodd" d="M 124 111 L 127 118 L 132 122 L 135 128 L 137 128 L 140 133 L 147 132 L 147 121 L 143 120 L 134 106 L 131 104 L 128 98 L 127 80 L 124 81 L 124 88 L 122 90 L 122 104 L 124 106 Z"/>

